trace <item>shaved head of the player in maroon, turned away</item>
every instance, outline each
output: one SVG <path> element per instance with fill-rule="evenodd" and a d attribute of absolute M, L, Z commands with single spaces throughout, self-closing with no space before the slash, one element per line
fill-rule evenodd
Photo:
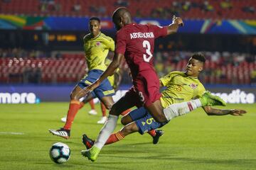
<path fill-rule="evenodd" d="M 132 23 L 131 13 L 127 8 L 119 7 L 112 15 L 112 22 L 117 30 L 121 29 L 123 26 Z"/>

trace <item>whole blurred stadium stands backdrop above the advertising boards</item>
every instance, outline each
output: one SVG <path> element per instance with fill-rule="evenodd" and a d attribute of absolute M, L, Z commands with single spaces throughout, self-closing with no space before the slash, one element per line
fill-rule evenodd
<path fill-rule="evenodd" d="M 203 83 L 256 84 L 256 0 L 0 0 L 4 14 L 0 14 L 0 26 L 8 26 L 0 27 L 0 83 L 75 84 L 85 75 L 82 38 L 89 31 L 75 30 L 70 18 L 78 19 L 79 26 L 86 19 L 85 27 L 91 16 L 111 23 L 118 6 L 127 6 L 133 16 L 142 18 L 135 20 L 171 22 L 176 15 L 195 22 L 187 24 L 187 32 L 156 40 L 154 62 L 159 77 L 185 70 L 188 58 L 201 51 L 207 59 L 200 77 Z M 52 28 L 45 29 L 42 18 L 48 18 Z M 63 24 L 65 19 L 68 24 Z M 61 24 L 54 29 L 58 21 L 68 29 Z M 111 29 L 102 28 L 102 32 L 114 38 Z M 123 68 L 127 72 L 122 84 L 131 84 L 127 66 Z"/>

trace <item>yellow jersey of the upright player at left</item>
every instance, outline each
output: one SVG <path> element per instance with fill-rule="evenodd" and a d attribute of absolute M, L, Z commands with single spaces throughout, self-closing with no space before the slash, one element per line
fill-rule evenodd
<path fill-rule="evenodd" d="M 105 71 L 107 69 L 105 59 L 109 50 L 114 51 L 114 40 L 100 33 L 96 38 L 92 38 L 92 35 L 87 34 L 83 38 L 83 41 L 85 59 L 89 71 L 92 69 Z"/>

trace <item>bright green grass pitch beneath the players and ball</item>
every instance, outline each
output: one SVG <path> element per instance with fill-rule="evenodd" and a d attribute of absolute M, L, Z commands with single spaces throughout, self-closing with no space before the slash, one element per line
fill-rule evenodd
<path fill-rule="evenodd" d="M 70 140 L 51 135 L 48 128 L 60 128 L 60 118 L 67 113 L 68 103 L 1 104 L 0 169 L 255 169 L 256 104 L 228 105 L 243 108 L 245 116 L 208 116 L 199 108 L 175 118 L 164 128 L 158 145 L 151 137 L 134 133 L 124 140 L 105 146 L 97 162 L 80 154 L 85 149 L 81 135 L 95 139 L 102 125 L 98 114 L 88 115 L 86 105 L 73 123 Z M 115 131 L 122 125 L 119 123 Z M 5 132 L 23 132 L 23 135 Z M 64 142 L 71 149 L 66 164 L 50 160 L 49 149 Z"/>

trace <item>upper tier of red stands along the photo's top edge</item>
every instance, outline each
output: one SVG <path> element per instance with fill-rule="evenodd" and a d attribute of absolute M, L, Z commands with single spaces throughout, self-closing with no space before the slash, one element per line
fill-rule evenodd
<path fill-rule="evenodd" d="M 138 18 L 255 19 L 255 0 L 1 0 L 4 14 L 30 16 L 111 16 L 127 6 Z M 157 7 L 156 7 L 157 6 Z"/>

